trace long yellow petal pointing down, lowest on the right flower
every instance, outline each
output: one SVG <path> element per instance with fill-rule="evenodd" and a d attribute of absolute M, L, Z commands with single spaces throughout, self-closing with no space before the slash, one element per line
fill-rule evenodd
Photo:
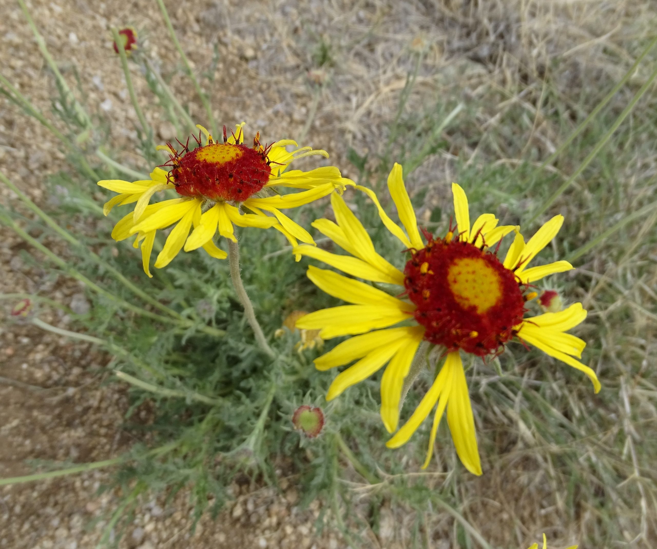
<path fill-rule="evenodd" d="M 477 437 L 472 416 L 472 404 L 468 393 L 468 383 L 465 380 L 463 364 L 459 352 L 451 352 L 453 377 L 452 387 L 447 404 L 447 424 L 452 435 L 452 441 L 459 455 L 461 463 L 473 475 L 482 474 L 482 465 L 479 460 Z M 447 361 L 445 361 L 446 363 Z"/>

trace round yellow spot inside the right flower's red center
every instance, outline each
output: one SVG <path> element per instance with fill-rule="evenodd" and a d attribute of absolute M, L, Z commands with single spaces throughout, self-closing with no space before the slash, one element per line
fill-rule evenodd
<path fill-rule="evenodd" d="M 502 297 L 499 273 L 482 258 L 455 259 L 447 270 L 447 284 L 463 308 L 474 306 L 484 314 Z"/>

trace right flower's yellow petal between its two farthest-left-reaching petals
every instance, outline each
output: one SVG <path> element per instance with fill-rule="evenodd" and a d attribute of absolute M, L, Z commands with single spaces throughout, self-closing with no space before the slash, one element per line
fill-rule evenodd
<path fill-rule="evenodd" d="M 348 278 L 333 271 L 319 269 L 311 265 L 308 267 L 306 275 L 319 289 L 348 303 L 387 306 L 394 310 L 407 312 L 415 310 L 415 306 L 411 303 L 397 299 L 365 282 Z"/>

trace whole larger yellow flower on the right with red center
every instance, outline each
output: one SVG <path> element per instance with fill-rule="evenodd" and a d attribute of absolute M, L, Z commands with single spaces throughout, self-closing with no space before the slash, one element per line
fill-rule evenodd
<path fill-rule="evenodd" d="M 390 172 L 388 189 L 405 231 L 388 217 L 371 189 L 360 185 L 356 188 L 371 197 L 383 224 L 401 241 L 409 257 L 402 272 L 380 256 L 365 228 L 338 195 L 331 197 L 337 224 L 321 219 L 315 221 L 313 227 L 351 256 L 310 246 L 294 249 L 296 254 L 310 256 L 355 277 L 402 287 L 392 289 L 393 295 L 390 295 L 365 282 L 309 267 L 307 275 L 317 287 L 351 303 L 312 312 L 296 323 L 303 329 L 321 329 L 319 335 L 323 339 L 355 335 L 315 360 L 319 370 L 357 360 L 334 379 L 327 400 L 388 363 L 381 378 L 380 413 L 386 429 L 392 433 L 399 421 L 403 381 L 420 343 L 427 341 L 442 346 L 446 358 L 440 372 L 415 412 L 388 441 L 388 446 L 397 448 L 407 442 L 437 402 L 424 467 L 430 462 L 436 430 L 446 409 L 447 423 L 461 462 L 469 471 L 480 475 L 482 469 L 461 351 L 486 358 L 503 352 L 505 345 L 514 339 L 526 342 L 586 373 L 595 391 L 599 391 L 595 372 L 573 358 L 581 357 L 585 343 L 565 333 L 586 318 L 580 303 L 560 312 L 524 318 L 528 312 L 526 301 L 536 297 L 536 293 L 530 291 L 530 283 L 572 269 L 566 261 L 528 268 L 529 262 L 555 237 L 562 225 L 562 216 L 549 220 L 525 243 L 518 227 L 497 227 L 498 220 L 493 214 L 482 214 L 470 224 L 466 195 L 459 185 L 453 184 L 457 226 L 450 228 L 442 238 L 424 232 L 425 243 L 399 164 Z M 512 232 L 514 241 L 501 260 L 497 256 L 499 242 Z M 497 247 L 491 248 L 496 244 Z M 399 322 L 405 323 L 392 327 Z"/>

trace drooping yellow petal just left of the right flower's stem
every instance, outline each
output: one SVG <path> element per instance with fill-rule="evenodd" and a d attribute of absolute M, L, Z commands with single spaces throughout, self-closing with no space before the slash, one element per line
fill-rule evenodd
<path fill-rule="evenodd" d="M 424 327 L 402 328 L 406 331 L 403 345 L 390 360 L 381 377 L 381 419 L 388 433 L 394 433 L 399 423 L 399 400 L 405 377 L 411 368 L 417 348 L 424 336 Z"/>

